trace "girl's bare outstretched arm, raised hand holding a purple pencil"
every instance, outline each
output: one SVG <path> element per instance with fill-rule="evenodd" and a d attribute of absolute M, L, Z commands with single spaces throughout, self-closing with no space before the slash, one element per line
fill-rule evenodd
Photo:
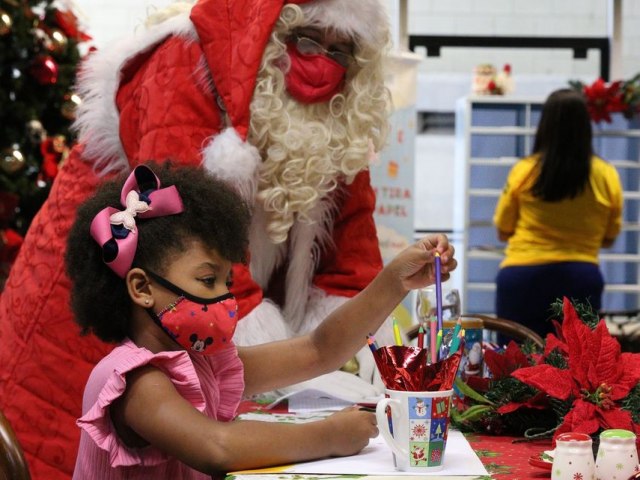
<path fill-rule="evenodd" d="M 444 235 L 431 235 L 399 253 L 354 298 L 332 312 L 313 332 L 298 338 L 239 348 L 245 367 L 245 393 L 298 383 L 333 371 L 366 345 L 409 290 L 435 281 L 435 252 L 441 254 L 442 279 L 456 267 Z"/>

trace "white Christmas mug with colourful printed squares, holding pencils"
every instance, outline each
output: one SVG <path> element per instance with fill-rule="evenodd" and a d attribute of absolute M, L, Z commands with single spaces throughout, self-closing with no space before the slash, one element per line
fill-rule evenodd
<path fill-rule="evenodd" d="M 453 390 L 386 390 L 376 417 L 382 438 L 393 451 L 396 469 L 430 472 L 442 469 Z"/>

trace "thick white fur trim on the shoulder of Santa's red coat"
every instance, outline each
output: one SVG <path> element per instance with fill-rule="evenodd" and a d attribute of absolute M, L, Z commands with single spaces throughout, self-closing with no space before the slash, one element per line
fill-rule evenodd
<path fill-rule="evenodd" d="M 82 104 L 78 107 L 74 129 L 79 133 L 80 143 L 85 146 L 83 157 L 94 161 L 97 168 L 104 171 L 129 169 L 118 131 L 120 115 L 116 94 L 120 86 L 120 72 L 130 59 L 169 35 L 197 38 L 188 13 L 98 50 L 82 65 L 78 82 Z"/>

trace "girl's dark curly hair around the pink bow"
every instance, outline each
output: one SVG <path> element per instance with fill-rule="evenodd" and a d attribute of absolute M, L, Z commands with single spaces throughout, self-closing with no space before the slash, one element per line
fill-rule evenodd
<path fill-rule="evenodd" d="M 225 183 L 202 168 L 147 163 L 161 188 L 175 185 L 184 211 L 177 215 L 136 218 L 138 246 L 133 266 L 166 272 L 167 258 L 185 251 L 192 239 L 215 248 L 225 259 L 245 261 L 250 213 L 245 202 Z M 67 241 L 65 262 L 71 279 L 71 307 L 82 333 L 105 342 L 128 335 L 132 302 L 122 278 L 102 259 L 102 248 L 91 237 L 96 214 L 105 207 L 123 210 L 120 192 L 129 174 L 103 183 L 78 209 Z"/>

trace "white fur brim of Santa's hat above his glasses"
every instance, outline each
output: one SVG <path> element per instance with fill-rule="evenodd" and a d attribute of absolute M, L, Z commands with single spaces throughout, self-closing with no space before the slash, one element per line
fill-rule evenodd
<path fill-rule="evenodd" d="M 333 28 L 376 49 L 387 42 L 389 19 L 380 0 L 315 0 L 300 8 L 305 24 Z"/>

